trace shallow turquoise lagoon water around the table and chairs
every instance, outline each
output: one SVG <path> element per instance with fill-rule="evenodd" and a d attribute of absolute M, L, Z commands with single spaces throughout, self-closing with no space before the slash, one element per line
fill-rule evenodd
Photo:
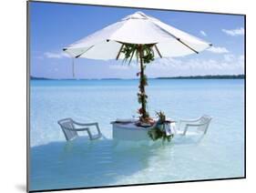
<path fill-rule="evenodd" d="M 81 188 L 244 175 L 243 80 L 148 80 L 148 110 L 213 117 L 205 137 L 150 146 L 112 139 L 111 121 L 137 116 L 138 80 L 32 80 L 30 189 Z M 56 121 L 99 123 L 104 138 L 66 142 Z"/>

